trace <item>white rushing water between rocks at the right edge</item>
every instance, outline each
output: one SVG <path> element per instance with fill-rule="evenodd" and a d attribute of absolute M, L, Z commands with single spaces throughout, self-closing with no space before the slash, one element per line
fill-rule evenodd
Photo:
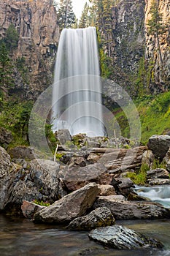
<path fill-rule="evenodd" d="M 152 187 L 136 187 L 134 191 L 147 199 L 161 203 L 164 207 L 170 208 L 170 186 L 152 186 Z"/>

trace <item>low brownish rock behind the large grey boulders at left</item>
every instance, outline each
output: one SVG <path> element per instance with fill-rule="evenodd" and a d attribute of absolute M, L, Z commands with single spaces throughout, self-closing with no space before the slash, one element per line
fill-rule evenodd
<path fill-rule="evenodd" d="M 12 159 L 25 159 L 29 161 L 35 158 L 34 150 L 26 146 L 10 148 L 9 155 L 12 157 Z"/>

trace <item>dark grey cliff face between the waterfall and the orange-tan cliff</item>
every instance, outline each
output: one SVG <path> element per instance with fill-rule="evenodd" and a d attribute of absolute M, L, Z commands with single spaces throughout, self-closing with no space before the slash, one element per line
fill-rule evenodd
<path fill-rule="evenodd" d="M 112 79 L 125 89 L 133 88 L 144 56 L 144 6 L 144 0 L 120 0 L 112 7 Z"/>

